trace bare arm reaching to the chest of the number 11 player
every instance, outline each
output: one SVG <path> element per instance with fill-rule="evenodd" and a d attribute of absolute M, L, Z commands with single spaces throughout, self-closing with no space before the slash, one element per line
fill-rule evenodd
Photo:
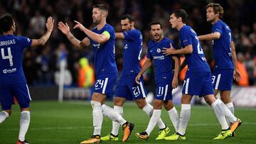
<path fill-rule="evenodd" d="M 175 50 L 174 47 L 171 45 L 171 48 L 163 48 L 162 50 L 164 55 L 183 55 L 183 54 L 190 54 L 193 52 L 192 45 L 186 45 L 185 48 Z"/>

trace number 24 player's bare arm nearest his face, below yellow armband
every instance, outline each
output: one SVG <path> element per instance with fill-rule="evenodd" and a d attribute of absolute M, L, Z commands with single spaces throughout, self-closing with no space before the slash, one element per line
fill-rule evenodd
<path fill-rule="evenodd" d="M 103 44 L 103 43 L 106 43 L 107 40 L 110 39 L 109 33 L 108 34 L 107 33 L 97 34 L 97 33 L 90 31 L 89 29 L 85 28 L 85 26 L 82 26 L 82 24 L 79 23 L 78 21 L 75 21 L 75 23 L 77 23 L 77 24 L 75 25 L 74 28 L 79 28 L 80 31 L 83 31 L 89 38 L 91 38 L 92 40 L 94 40 L 97 43 Z"/>

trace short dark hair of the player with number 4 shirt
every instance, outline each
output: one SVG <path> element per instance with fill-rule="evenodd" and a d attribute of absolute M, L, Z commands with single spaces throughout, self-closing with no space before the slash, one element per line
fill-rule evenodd
<path fill-rule="evenodd" d="M 2 32 L 7 32 L 11 30 L 11 26 L 14 25 L 14 18 L 10 15 L 5 15 L 0 19 L 0 30 Z"/>

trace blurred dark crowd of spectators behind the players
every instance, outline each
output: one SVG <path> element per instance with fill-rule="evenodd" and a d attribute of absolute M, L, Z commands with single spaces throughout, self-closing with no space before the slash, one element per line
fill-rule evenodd
<path fill-rule="evenodd" d="M 164 35 L 174 40 L 179 47 L 178 32 L 171 29 L 169 15 L 174 9 L 188 11 L 187 24 L 192 26 L 198 35 L 210 33 L 211 25 L 206 22 L 206 5 L 210 2 L 219 3 L 224 9 L 225 23 L 233 31 L 233 40 L 238 57 L 239 70 L 242 72 L 242 83 L 248 86 L 256 84 L 256 1 L 253 0 L 226 0 L 226 1 L 190 1 L 190 0 L 1 0 L 0 16 L 10 13 L 16 20 L 16 35 L 28 38 L 41 38 L 46 31 L 46 18 L 53 16 L 55 28 L 46 45 L 24 51 L 23 70 L 28 84 L 33 86 L 55 85 L 60 69 L 60 57 L 64 52 L 67 55 L 67 85 L 87 87 L 82 84 L 81 72 L 85 69 L 81 59 L 90 67 L 92 77 L 93 55 L 92 48 L 76 50 L 65 35 L 58 31 L 58 21 L 68 23 L 71 32 L 76 38 L 82 40 L 85 34 L 74 29 L 74 20 L 80 21 L 85 27 L 92 29 L 92 6 L 105 4 L 109 7 L 107 23 L 114 26 L 115 31 L 122 31 L 120 17 L 129 13 L 135 18 L 135 27 L 142 31 L 144 37 L 142 57 L 146 54 L 147 43 L 151 40 L 148 23 L 153 20 L 163 23 Z M 116 62 L 119 72 L 122 70 L 123 41 L 116 40 Z M 201 42 L 208 62 L 213 65 L 213 52 L 211 41 Z M 84 61 L 83 61 L 84 64 Z M 87 70 L 87 68 L 86 68 Z M 152 70 L 147 72 L 146 83 L 151 84 L 154 79 Z M 57 75 L 57 76 L 56 76 Z M 86 78 L 86 77 L 85 77 Z M 94 79 L 87 82 L 93 83 Z M 90 85 L 89 84 L 89 85 Z"/>

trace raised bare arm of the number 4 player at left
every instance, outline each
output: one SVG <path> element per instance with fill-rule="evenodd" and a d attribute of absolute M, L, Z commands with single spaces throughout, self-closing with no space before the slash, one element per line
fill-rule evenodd
<path fill-rule="evenodd" d="M 50 33 L 53 31 L 53 24 L 54 24 L 54 19 L 53 17 L 49 16 L 46 22 L 46 28 L 47 28 L 46 34 L 44 34 L 40 39 L 33 39 L 31 47 L 46 44 L 46 41 L 50 38 Z"/>

